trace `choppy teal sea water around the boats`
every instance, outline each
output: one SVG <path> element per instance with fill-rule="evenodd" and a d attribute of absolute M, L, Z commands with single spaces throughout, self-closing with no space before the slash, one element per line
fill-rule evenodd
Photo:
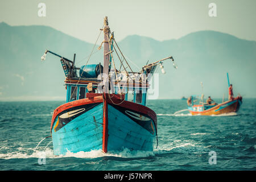
<path fill-rule="evenodd" d="M 218 117 L 174 114 L 187 108 L 185 100 L 147 101 L 158 115 L 154 151 L 55 156 L 51 138 L 35 150 L 51 135 L 52 113 L 61 104 L 0 102 L 0 170 L 256 170 L 256 99 L 244 99 L 237 114 Z"/>

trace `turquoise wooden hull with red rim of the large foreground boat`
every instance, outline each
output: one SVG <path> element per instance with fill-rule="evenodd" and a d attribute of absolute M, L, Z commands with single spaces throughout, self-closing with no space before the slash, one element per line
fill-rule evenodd
<path fill-rule="evenodd" d="M 51 123 L 54 154 L 122 148 L 152 151 L 156 114 L 123 99 L 115 94 L 105 99 L 102 94 L 89 93 L 85 99 L 57 107 Z"/>

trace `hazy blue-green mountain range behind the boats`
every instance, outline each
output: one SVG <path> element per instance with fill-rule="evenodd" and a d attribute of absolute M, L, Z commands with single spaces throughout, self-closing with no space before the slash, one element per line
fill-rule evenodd
<path fill-rule="evenodd" d="M 89 35 L 88 35 L 89 36 Z M 65 100 L 64 73 L 59 57 L 46 49 L 86 64 L 93 44 L 73 38 L 47 26 L 9 26 L 0 23 L 0 100 Z M 99 40 L 98 44 L 102 40 Z M 166 74 L 159 73 L 159 98 L 181 98 L 201 94 L 222 97 L 228 94 L 226 72 L 234 86 L 234 94 L 255 97 L 256 42 L 238 39 L 216 31 L 193 32 L 180 39 L 159 42 L 152 38 L 130 35 L 118 42 L 133 71 L 152 61 L 173 56 L 164 63 Z M 94 49 L 97 50 L 98 45 Z M 88 64 L 102 63 L 102 49 L 93 53 Z M 114 61 L 119 69 L 119 61 Z M 137 65 L 137 66 L 136 66 Z M 139 67 L 139 68 L 137 68 Z"/>

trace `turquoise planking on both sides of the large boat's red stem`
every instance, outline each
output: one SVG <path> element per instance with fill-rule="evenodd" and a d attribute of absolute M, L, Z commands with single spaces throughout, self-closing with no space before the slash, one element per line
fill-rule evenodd
<path fill-rule="evenodd" d="M 131 150 L 153 150 L 155 133 L 151 134 L 111 105 L 108 105 L 108 116 L 108 151 L 121 150 L 123 147 Z M 76 153 L 102 149 L 102 104 L 81 114 L 55 132 L 56 122 L 57 118 L 52 129 L 54 155 L 64 155 L 67 151 Z M 154 124 L 153 127 L 155 131 Z"/>

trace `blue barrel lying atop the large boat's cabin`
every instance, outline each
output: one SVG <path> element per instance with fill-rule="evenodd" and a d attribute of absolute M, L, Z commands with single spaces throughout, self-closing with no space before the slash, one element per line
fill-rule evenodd
<path fill-rule="evenodd" d="M 97 78 L 100 73 L 103 73 L 103 67 L 100 64 L 82 65 L 79 73 L 83 78 Z"/>

